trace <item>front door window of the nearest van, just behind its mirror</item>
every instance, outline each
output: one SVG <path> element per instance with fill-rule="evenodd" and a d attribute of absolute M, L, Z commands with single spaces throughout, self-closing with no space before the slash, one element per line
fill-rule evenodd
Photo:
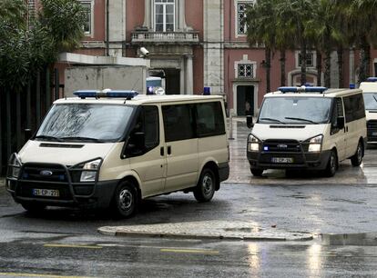
<path fill-rule="evenodd" d="M 158 107 L 143 106 L 143 110 L 146 147 L 148 150 L 150 150 L 159 144 Z"/>

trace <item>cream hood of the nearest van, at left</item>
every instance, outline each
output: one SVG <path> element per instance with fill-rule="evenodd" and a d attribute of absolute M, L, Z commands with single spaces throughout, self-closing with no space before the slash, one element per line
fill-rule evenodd
<path fill-rule="evenodd" d="M 29 140 L 18 153 L 21 162 L 75 165 L 104 158 L 115 143 L 67 143 Z"/>

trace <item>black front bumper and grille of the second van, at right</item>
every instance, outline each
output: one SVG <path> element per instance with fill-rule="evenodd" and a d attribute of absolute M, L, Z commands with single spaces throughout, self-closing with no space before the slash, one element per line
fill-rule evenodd
<path fill-rule="evenodd" d="M 280 149 L 278 146 L 287 146 Z M 268 151 L 265 151 L 267 147 Z M 309 144 L 301 143 L 299 141 L 278 141 L 267 140 L 260 144 L 259 152 L 250 152 L 248 150 L 247 156 L 250 163 L 250 168 L 256 169 L 312 169 L 323 170 L 326 168 L 330 150 L 321 151 L 319 153 L 309 153 Z M 275 162 L 275 161 L 285 162 Z"/>

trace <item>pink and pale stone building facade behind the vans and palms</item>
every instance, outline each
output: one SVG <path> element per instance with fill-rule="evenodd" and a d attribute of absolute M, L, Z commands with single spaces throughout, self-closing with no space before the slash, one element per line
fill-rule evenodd
<path fill-rule="evenodd" d="M 149 74 L 165 80 L 167 94 L 224 95 L 237 115 L 257 114 L 266 94 L 266 62 L 262 45 L 249 45 L 244 24 L 247 5 L 255 0 L 79 0 L 87 9 L 84 55 L 140 57 L 148 49 Z M 286 84 L 300 84 L 300 51 L 286 54 Z M 331 86 L 337 76 L 356 83 L 359 53 L 344 51 L 339 73 L 331 56 Z M 316 53 L 306 57 L 307 80 L 317 84 Z M 376 74 L 377 52 L 372 51 Z M 270 88 L 280 86 L 280 54 L 272 55 Z M 323 80 L 323 78 L 322 78 Z"/>

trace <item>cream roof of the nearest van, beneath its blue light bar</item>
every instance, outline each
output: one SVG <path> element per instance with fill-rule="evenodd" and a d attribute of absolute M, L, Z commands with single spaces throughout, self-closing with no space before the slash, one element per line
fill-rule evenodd
<path fill-rule="evenodd" d="M 222 100 L 222 95 L 199 95 L 199 94 L 138 94 L 130 100 L 126 98 L 113 98 L 113 97 L 67 97 L 61 98 L 54 102 L 54 104 L 66 104 L 66 103 L 82 103 L 82 104 L 160 104 L 160 103 L 177 103 L 177 102 L 197 102 L 207 100 Z"/>

